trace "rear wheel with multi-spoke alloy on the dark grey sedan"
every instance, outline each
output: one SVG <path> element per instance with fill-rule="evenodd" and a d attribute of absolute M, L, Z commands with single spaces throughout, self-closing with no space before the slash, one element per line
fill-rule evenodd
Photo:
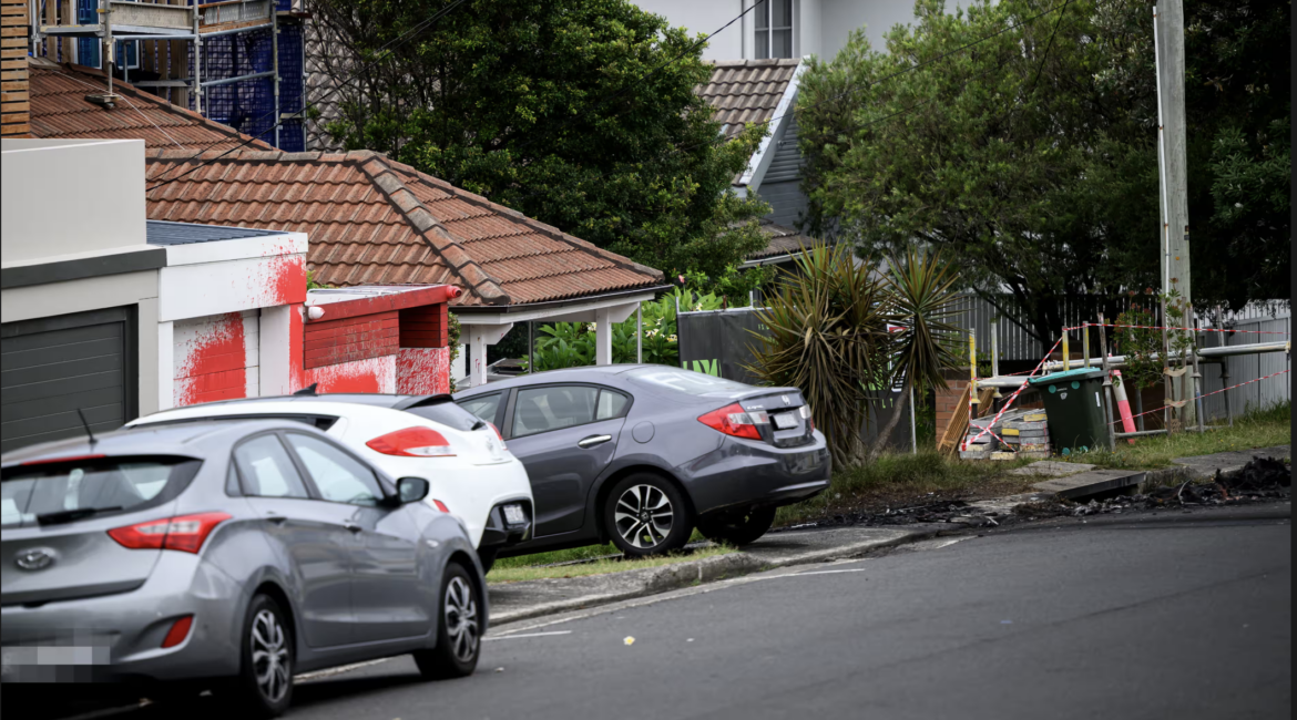
<path fill-rule="evenodd" d="M 604 501 L 603 527 L 626 557 L 669 553 L 694 531 L 685 497 L 671 480 L 651 473 L 623 478 Z"/>

